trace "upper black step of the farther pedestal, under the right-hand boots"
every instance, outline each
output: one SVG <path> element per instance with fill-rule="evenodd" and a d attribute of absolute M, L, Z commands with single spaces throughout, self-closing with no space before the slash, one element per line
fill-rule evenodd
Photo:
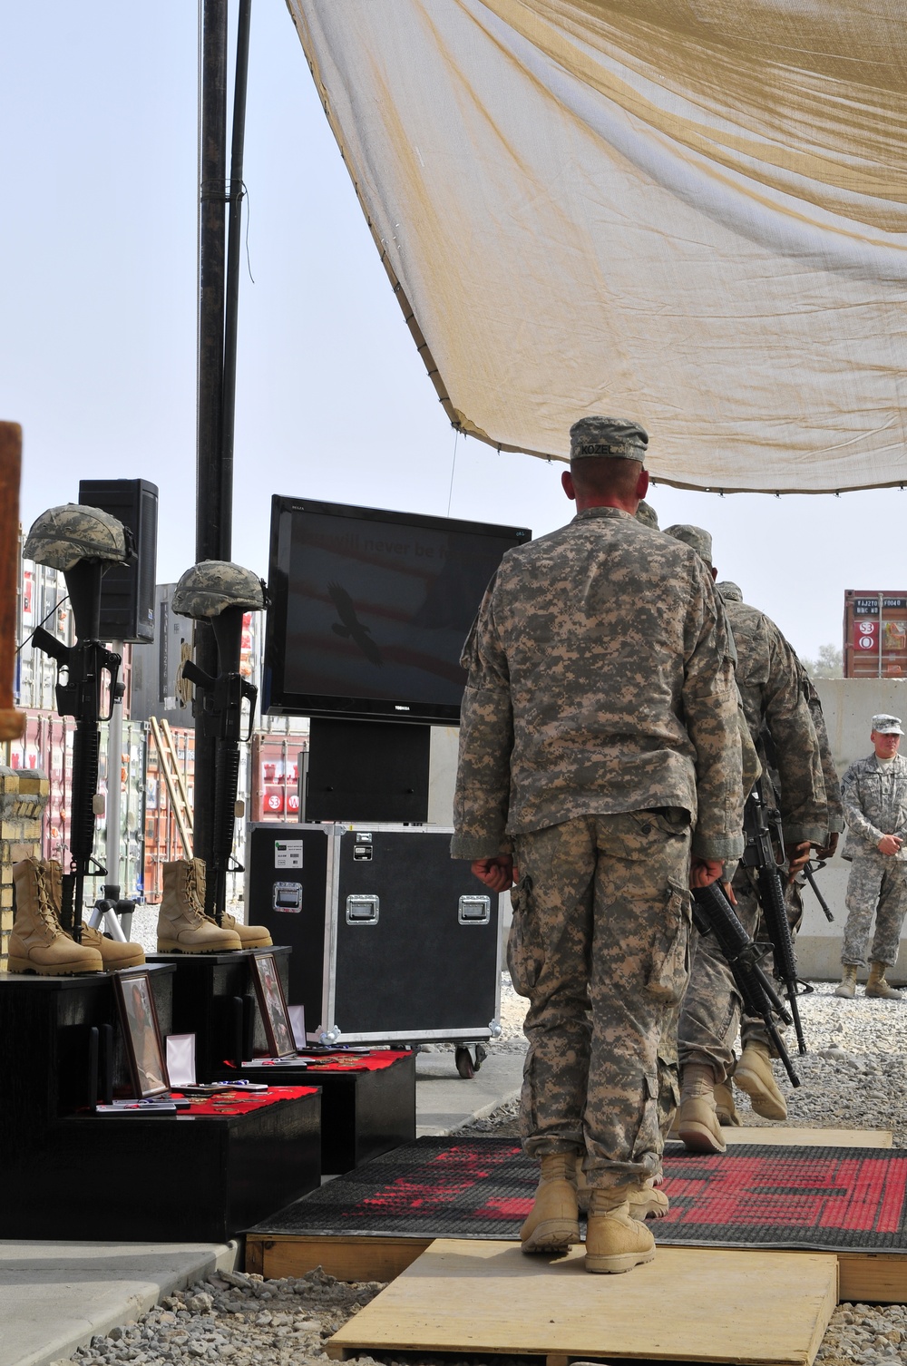
<path fill-rule="evenodd" d="M 149 955 L 149 963 L 165 964 L 176 974 L 172 1026 L 167 1033 L 195 1035 L 199 1082 L 235 1075 L 224 1072 L 224 1063 L 268 1052 L 251 975 L 250 959 L 255 953 L 273 953 L 285 993 L 291 949 L 283 945 L 232 953 Z"/>

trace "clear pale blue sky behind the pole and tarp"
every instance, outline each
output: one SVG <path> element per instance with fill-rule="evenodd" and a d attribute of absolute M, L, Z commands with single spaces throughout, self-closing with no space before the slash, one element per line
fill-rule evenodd
<path fill-rule="evenodd" d="M 160 582 L 194 559 L 197 23 L 191 0 L 0 8 L 0 417 L 25 428 L 22 520 L 79 478 L 153 479 Z M 452 469 L 281 0 L 253 5 L 245 180 L 234 559 L 265 574 L 272 493 L 566 520 L 563 466 L 460 437 Z M 662 526 L 709 527 L 720 578 L 803 654 L 840 646 L 844 589 L 907 590 L 900 490 L 652 501 Z"/>

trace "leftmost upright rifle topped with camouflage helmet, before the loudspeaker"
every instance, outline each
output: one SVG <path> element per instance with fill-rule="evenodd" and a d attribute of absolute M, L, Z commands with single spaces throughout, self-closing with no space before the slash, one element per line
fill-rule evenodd
<path fill-rule="evenodd" d="M 107 876 L 107 869 L 93 856 L 94 818 L 104 814 L 104 798 L 97 791 L 100 723 L 109 721 L 115 702 L 123 695 L 119 682 L 122 658 L 98 641 L 101 578 L 111 564 L 127 564 L 134 557 L 132 537 L 122 522 L 107 512 L 70 503 L 41 514 L 29 531 L 23 553 L 38 564 L 63 570 L 75 619 L 75 645 L 63 645 L 41 626 L 31 638 L 37 649 L 57 661 L 57 712 L 75 720 L 71 865 L 63 876 L 60 923 L 78 944 L 82 940 L 85 878 L 90 874 Z M 109 708 L 102 714 L 105 678 Z"/>

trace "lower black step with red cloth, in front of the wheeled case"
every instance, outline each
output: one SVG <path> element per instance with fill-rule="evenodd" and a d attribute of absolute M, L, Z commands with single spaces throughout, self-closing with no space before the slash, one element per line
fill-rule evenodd
<path fill-rule="evenodd" d="M 352 1171 L 415 1139 L 415 1053 L 395 1053 L 378 1071 L 307 1068 L 288 1059 L 239 1071 L 225 1068 L 221 1076 L 247 1076 L 269 1086 L 320 1086 L 325 1175 Z"/>

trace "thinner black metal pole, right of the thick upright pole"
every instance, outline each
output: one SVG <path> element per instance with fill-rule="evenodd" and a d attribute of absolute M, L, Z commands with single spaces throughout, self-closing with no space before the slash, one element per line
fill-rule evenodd
<path fill-rule="evenodd" d="M 225 526 L 234 512 L 234 425 L 236 417 L 236 326 L 239 320 L 239 258 L 242 253 L 243 146 L 251 0 L 239 0 L 234 131 L 229 142 L 229 227 L 227 236 L 227 307 L 224 324 L 224 400 L 221 410 L 221 508 Z M 229 559 L 228 555 L 224 559 Z"/>

